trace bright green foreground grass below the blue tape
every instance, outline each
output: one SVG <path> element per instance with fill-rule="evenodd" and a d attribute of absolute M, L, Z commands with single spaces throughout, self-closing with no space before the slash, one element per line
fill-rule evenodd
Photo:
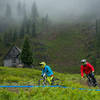
<path fill-rule="evenodd" d="M 20 90 L 19 94 L 0 90 L 2 100 L 99 100 L 100 93 L 62 88 L 35 88 Z"/>

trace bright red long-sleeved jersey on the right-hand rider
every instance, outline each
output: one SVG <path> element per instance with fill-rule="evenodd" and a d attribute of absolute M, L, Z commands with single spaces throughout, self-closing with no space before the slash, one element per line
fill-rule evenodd
<path fill-rule="evenodd" d="M 93 66 L 86 62 L 86 65 L 81 65 L 81 76 L 83 77 L 84 76 L 84 72 L 86 75 L 88 75 L 90 72 L 94 71 L 94 68 Z"/>

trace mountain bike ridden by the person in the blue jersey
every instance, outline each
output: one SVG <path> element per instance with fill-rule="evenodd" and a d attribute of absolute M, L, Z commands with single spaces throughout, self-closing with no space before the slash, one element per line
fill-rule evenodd
<path fill-rule="evenodd" d="M 38 81 L 38 85 L 40 86 L 46 86 L 46 85 L 60 85 L 61 81 L 58 79 L 58 78 L 53 78 L 52 79 L 52 83 L 49 84 L 48 81 L 47 81 L 47 76 L 46 74 L 43 75 L 42 78 L 39 79 Z"/>

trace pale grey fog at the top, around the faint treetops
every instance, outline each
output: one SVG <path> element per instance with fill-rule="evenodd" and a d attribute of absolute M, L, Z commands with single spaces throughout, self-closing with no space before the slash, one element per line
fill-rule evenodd
<path fill-rule="evenodd" d="M 40 16 L 46 14 L 52 20 L 78 20 L 84 16 L 97 18 L 100 15 L 100 0 L 0 0 L 0 15 L 5 14 L 7 3 L 16 16 L 18 2 L 26 5 L 27 13 L 31 12 L 33 2 L 36 2 Z"/>

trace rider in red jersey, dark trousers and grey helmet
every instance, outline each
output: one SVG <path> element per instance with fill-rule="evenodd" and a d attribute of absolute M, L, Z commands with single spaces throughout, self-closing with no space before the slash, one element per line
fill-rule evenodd
<path fill-rule="evenodd" d="M 94 77 L 94 68 L 93 66 L 86 61 L 86 59 L 82 59 L 81 60 L 81 78 L 83 78 L 84 73 L 86 74 L 88 80 L 90 81 L 89 77 L 91 77 L 93 79 L 93 83 L 95 84 L 95 86 L 97 85 L 97 81 Z"/>

